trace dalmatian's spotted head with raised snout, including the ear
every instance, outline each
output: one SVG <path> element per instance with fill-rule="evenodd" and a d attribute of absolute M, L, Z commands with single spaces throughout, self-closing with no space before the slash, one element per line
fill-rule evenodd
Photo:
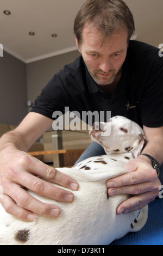
<path fill-rule="evenodd" d="M 112 117 L 108 123 L 94 123 L 89 133 L 93 141 L 101 144 L 108 155 L 131 152 L 135 158 L 140 155 L 146 143 L 141 127 L 120 115 Z"/>

